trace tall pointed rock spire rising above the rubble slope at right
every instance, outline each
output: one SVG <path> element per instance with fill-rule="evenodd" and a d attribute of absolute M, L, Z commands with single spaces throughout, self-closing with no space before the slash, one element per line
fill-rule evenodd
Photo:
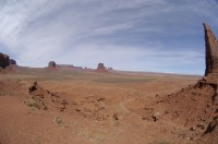
<path fill-rule="evenodd" d="M 206 47 L 206 70 L 205 75 L 209 73 L 218 73 L 218 41 L 209 28 L 209 25 L 204 23 L 205 31 L 205 47 Z"/>

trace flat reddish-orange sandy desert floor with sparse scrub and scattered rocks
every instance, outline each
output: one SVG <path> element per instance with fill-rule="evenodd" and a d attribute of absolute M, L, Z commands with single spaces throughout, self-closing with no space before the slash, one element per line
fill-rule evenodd
<path fill-rule="evenodd" d="M 198 79 L 44 70 L 1 74 L 0 144 L 189 143 L 173 132 L 190 128 L 167 118 L 147 120 L 143 110 Z"/>

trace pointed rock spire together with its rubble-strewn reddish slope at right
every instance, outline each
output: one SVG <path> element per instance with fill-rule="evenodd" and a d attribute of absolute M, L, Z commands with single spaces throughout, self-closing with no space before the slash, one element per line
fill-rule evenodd
<path fill-rule="evenodd" d="M 181 135 L 181 143 L 208 143 L 218 142 L 218 43 L 208 24 L 205 31 L 205 76 L 195 85 L 182 88 L 180 92 L 162 96 L 153 106 L 144 108 L 143 119 L 155 121 L 154 113 L 159 112 L 161 119 L 170 119 L 186 129 Z M 166 109 L 165 112 L 160 111 Z M 177 131 L 177 130 L 175 130 Z M 172 131 L 172 133 L 175 133 Z"/>

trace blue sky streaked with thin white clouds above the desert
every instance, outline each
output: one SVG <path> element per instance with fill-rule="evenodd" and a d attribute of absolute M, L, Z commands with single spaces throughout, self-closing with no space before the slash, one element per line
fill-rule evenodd
<path fill-rule="evenodd" d="M 218 0 L 0 0 L 0 51 L 19 65 L 204 74 Z"/>

